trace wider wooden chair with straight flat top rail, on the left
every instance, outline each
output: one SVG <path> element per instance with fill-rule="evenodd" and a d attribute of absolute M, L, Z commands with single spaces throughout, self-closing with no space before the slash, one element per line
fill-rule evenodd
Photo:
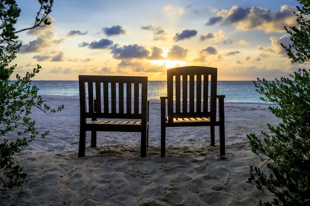
<path fill-rule="evenodd" d="M 141 132 L 141 157 L 146 157 L 149 140 L 148 77 L 79 76 L 80 143 L 78 157 L 84 157 L 86 131 Z"/>

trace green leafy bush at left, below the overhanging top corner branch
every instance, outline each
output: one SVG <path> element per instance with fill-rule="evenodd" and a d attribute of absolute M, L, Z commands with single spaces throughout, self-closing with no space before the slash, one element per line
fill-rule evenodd
<path fill-rule="evenodd" d="M 0 65 L 4 67 L 8 75 L 13 73 L 16 65 L 5 69 L 8 63 L 16 56 L 21 44 L 7 45 L 4 49 L 0 49 Z M 17 134 L 19 137 L 15 142 L 9 142 L 4 139 L 0 143 L 0 185 L 3 188 L 11 188 L 13 186 L 21 186 L 26 174 L 13 156 L 28 146 L 28 143 L 39 135 L 35 128 L 35 121 L 32 121 L 29 115 L 33 107 L 39 108 L 44 113 L 50 114 L 60 111 L 63 105 L 57 110 L 44 104 L 41 96 L 38 95 L 39 88 L 31 85 L 31 78 L 35 76 L 41 69 L 41 66 L 34 68 L 31 73 L 27 73 L 25 77 L 16 75 L 16 82 L 0 83 L 0 136 L 7 134 Z M 41 134 L 44 138 L 49 131 Z"/>

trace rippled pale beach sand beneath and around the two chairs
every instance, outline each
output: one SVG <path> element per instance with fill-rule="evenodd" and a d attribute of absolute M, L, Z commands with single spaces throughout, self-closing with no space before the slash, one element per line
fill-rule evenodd
<path fill-rule="evenodd" d="M 125 132 L 99 132 L 98 147 L 88 141 L 85 158 L 77 158 L 78 97 L 44 99 L 65 109 L 33 112 L 37 128 L 51 133 L 17 155 L 27 178 L 22 191 L 0 192 L 1 206 L 253 206 L 264 198 L 247 182 L 249 165 L 260 162 L 246 135 L 278 122 L 266 105 L 225 104 L 226 160 L 219 159 L 217 133 L 216 146 L 209 146 L 208 127 L 167 128 L 166 157 L 160 158 L 156 100 L 147 158 L 140 157 L 140 133 Z"/>

